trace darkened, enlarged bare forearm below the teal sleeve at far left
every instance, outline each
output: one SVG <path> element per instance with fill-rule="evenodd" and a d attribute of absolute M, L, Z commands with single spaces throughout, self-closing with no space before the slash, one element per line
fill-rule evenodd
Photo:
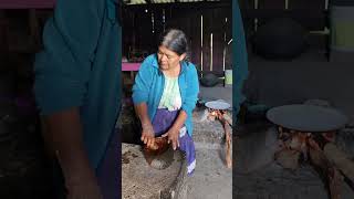
<path fill-rule="evenodd" d="M 83 145 L 79 108 L 43 116 L 43 137 L 63 170 L 67 198 L 102 198 Z"/>

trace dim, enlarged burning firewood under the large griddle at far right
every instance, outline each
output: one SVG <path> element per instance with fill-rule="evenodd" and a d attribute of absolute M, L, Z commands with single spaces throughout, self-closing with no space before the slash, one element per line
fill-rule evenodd
<path fill-rule="evenodd" d="M 295 169 L 299 166 L 300 155 L 306 155 L 311 165 L 323 177 L 329 187 L 331 199 L 340 198 L 340 187 L 344 177 L 354 182 L 354 163 L 334 144 L 335 132 L 322 134 L 302 133 L 278 128 L 279 147 L 275 160 L 284 168 Z"/>

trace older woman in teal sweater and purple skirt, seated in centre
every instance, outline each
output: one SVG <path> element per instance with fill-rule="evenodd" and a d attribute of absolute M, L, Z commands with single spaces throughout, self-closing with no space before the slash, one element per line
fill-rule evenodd
<path fill-rule="evenodd" d="M 133 101 L 140 119 L 142 140 L 155 146 L 156 136 L 167 136 L 174 149 L 186 153 L 188 175 L 196 166 L 191 138 L 191 113 L 199 92 L 195 65 L 186 61 L 187 39 L 183 31 L 165 32 L 158 51 L 145 59 L 133 86 Z"/>

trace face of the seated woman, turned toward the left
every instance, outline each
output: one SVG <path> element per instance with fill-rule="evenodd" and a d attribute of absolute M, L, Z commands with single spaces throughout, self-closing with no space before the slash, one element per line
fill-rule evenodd
<path fill-rule="evenodd" d="M 179 62 L 185 59 L 185 53 L 178 55 L 176 52 L 168 50 L 164 45 L 160 45 L 157 52 L 158 64 L 163 71 L 175 69 L 179 65 Z"/>

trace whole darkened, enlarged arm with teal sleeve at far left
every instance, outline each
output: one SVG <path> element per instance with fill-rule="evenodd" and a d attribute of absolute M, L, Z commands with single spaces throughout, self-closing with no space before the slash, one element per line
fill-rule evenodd
<path fill-rule="evenodd" d="M 43 30 L 43 51 L 35 56 L 34 93 L 43 136 L 63 170 L 67 198 L 102 198 L 94 165 L 83 146 L 79 109 L 87 94 L 105 4 L 96 0 L 56 1 Z"/>

